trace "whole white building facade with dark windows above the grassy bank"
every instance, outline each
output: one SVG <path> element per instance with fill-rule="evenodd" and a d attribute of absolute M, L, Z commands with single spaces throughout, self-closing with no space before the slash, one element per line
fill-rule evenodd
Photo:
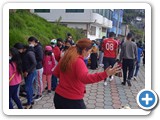
<path fill-rule="evenodd" d="M 112 9 L 32 9 L 49 22 L 60 20 L 67 27 L 83 29 L 86 37 L 95 40 L 106 36 L 112 28 Z"/>

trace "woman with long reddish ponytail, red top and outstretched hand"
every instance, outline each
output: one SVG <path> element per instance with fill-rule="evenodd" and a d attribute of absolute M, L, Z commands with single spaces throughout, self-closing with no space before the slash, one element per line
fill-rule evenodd
<path fill-rule="evenodd" d="M 92 48 L 92 41 L 81 39 L 72 46 L 56 66 L 53 74 L 59 78 L 55 90 L 54 105 L 56 109 L 85 109 L 83 101 L 85 84 L 96 83 L 107 76 L 118 73 L 120 68 L 107 68 L 104 72 L 89 74 L 84 63 Z"/>

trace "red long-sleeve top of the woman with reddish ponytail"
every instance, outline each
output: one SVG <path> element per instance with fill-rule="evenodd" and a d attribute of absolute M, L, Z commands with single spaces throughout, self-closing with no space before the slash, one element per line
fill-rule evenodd
<path fill-rule="evenodd" d="M 89 74 L 83 59 L 81 56 L 78 57 L 72 64 L 72 71 L 67 70 L 65 73 L 61 72 L 58 63 L 53 71 L 53 74 L 60 79 L 55 91 L 57 94 L 72 100 L 83 99 L 85 84 L 95 83 L 107 77 L 105 71 Z"/>

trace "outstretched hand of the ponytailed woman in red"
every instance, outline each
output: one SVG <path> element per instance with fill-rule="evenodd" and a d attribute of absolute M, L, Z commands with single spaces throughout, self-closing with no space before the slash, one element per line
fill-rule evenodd
<path fill-rule="evenodd" d="M 105 71 L 108 76 L 111 76 L 111 75 L 121 72 L 121 66 L 114 65 L 113 68 L 109 66 Z"/>

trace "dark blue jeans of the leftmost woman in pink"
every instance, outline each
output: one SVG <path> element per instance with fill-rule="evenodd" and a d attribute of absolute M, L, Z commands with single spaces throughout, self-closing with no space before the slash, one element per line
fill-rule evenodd
<path fill-rule="evenodd" d="M 23 109 L 21 101 L 18 97 L 18 88 L 19 84 L 14 86 L 9 86 L 9 109 L 13 109 L 12 99 L 17 104 L 17 107 L 19 109 Z"/>

